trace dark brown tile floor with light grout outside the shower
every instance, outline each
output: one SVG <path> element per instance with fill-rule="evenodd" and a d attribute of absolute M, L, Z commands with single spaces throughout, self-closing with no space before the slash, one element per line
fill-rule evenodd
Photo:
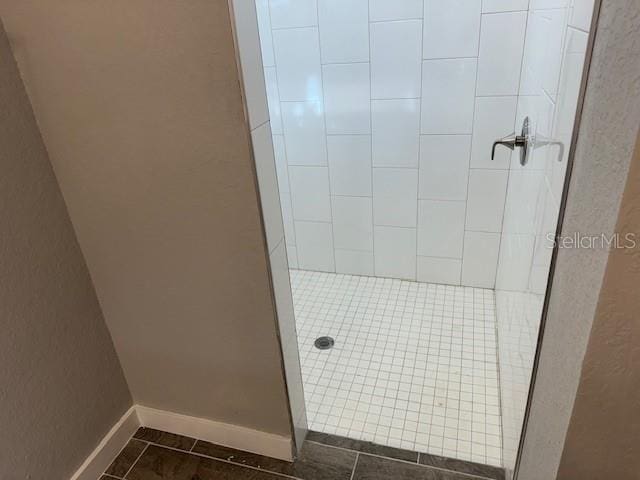
<path fill-rule="evenodd" d="M 504 480 L 500 468 L 309 432 L 295 462 L 140 428 L 100 480 Z"/>

